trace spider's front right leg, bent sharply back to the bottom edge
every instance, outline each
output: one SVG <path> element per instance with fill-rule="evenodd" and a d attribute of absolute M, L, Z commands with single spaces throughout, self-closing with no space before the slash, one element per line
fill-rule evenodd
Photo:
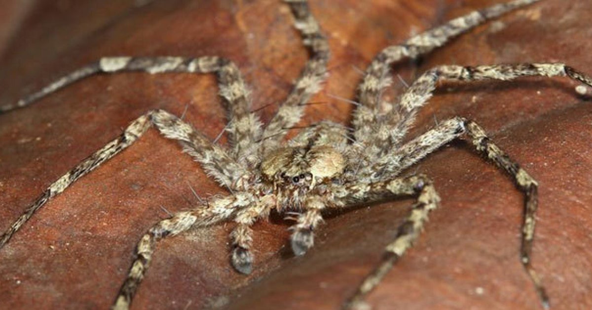
<path fill-rule="evenodd" d="M 392 266 L 403 256 L 407 249 L 419 237 L 427 221 L 430 211 L 437 207 L 440 201 L 432 181 L 424 175 L 413 175 L 406 178 L 395 178 L 384 182 L 375 182 L 357 192 L 357 197 L 346 197 L 345 200 L 367 200 L 380 195 L 417 195 L 417 202 L 411 207 L 410 214 L 397 229 L 397 236 L 385 248 L 382 262 L 369 273 L 358 286 L 352 298 L 343 305 L 343 309 L 365 308 L 363 299 L 372 291 L 392 269 Z"/>

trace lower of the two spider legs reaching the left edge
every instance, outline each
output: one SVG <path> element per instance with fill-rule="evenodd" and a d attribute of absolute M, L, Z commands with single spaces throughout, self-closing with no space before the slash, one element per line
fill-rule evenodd
<path fill-rule="evenodd" d="M 220 184 L 229 188 L 240 189 L 242 181 L 249 178 L 242 165 L 231 158 L 224 149 L 214 145 L 208 138 L 176 116 L 164 110 L 152 110 L 133 122 L 123 133 L 88 158 L 83 159 L 57 181 L 53 182 L 24 213 L 0 236 L 0 249 L 8 242 L 12 235 L 28 221 L 36 211 L 51 198 L 63 192 L 73 182 L 88 174 L 103 162 L 117 155 L 137 141 L 150 125 L 156 128 L 166 138 L 178 140 L 186 153 L 200 162 L 208 174 L 212 175 Z"/>

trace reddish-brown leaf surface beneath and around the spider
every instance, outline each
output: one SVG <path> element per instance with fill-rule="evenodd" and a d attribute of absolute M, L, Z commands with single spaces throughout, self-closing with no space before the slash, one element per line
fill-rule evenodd
<path fill-rule="evenodd" d="M 280 102 L 307 54 L 279 1 L 4 0 L 0 102 L 43 86 L 101 56 L 229 57 L 255 107 Z M 491 0 L 314 1 L 333 51 L 326 93 L 352 97 L 381 48 Z M 25 2 L 21 2 L 24 4 Z M 8 12 L 8 13 L 7 13 Z M 546 0 L 477 28 L 424 58 L 436 64 L 566 61 L 592 73 L 592 2 Z M 407 81 L 413 66 L 395 67 Z M 446 84 L 420 115 L 477 120 L 540 183 L 534 264 L 553 309 L 592 307 L 592 106 L 566 79 Z M 400 88 L 400 87 L 399 87 Z M 302 124 L 346 122 L 351 106 L 324 94 Z M 0 115 L 0 230 L 50 182 L 149 109 L 181 115 L 210 137 L 224 127 L 212 76 L 98 76 L 34 106 Z M 268 120 L 274 107 L 260 115 Z M 442 195 L 417 246 L 368 301 L 375 309 L 540 309 L 518 259 L 522 195 L 464 142 L 414 168 Z M 414 170 L 414 171 L 415 171 Z M 0 250 L 0 308 L 106 309 L 141 234 L 165 211 L 224 192 L 174 142 L 154 130 L 48 203 Z M 134 309 L 335 309 L 378 262 L 409 201 L 333 216 L 316 247 L 294 258 L 287 223 L 255 226 L 251 276 L 231 269 L 231 224 L 160 243 Z M 477 293 L 482 288 L 482 295 Z"/>

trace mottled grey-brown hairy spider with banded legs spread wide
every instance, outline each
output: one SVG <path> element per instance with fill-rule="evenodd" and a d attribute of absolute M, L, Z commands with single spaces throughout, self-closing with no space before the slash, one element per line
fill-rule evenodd
<path fill-rule="evenodd" d="M 165 110 L 152 110 L 129 125 L 124 133 L 85 161 L 67 172 L 41 194 L 27 211 L 2 235 L 0 247 L 8 242 L 38 208 L 59 194 L 78 178 L 102 162 L 123 151 L 150 126 L 166 138 L 178 140 L 186 153 L 200 162 L 208 174 L 229 190 L 225 197 L 213 197 L 194 210 L 173 214 L 153 226 L 141 238 L 136 259 L 126 282 L 121 287 L 114 308 L 128 308 L 146 272 L 157 240 L 182 233 L 192 227 L 210 226 L 224 220 L 236 222 L 231 234 L 231 263 L 241 273 L 250 273 L 253 265 L 252 226 L 266 218 L 272 210 L 296 216 L 292 226 L 291 247 L 303 255 L 314 244 L 314 231 L 323 221 L 324 210 L 384 200 L 398 195 L 417 197 L 410 216 L 401 224 L 395 240 L 388 244 L 381 264 L 363 280 L 358 291 L 344 305 L 363 305 L 371 291 L 417 239 L 429 211 L 440 198 L 432 181 L 425 175 L 403 177 L 401 172 L 427 154 L 461 136 L 468 136 L 477 151 L 488 156 L 508 172 L 525 193 L 525 220 L 522 235 L 522 263 L 535 284 L 543 305 L 548 297 L 530 265 L 530 252 L 536 211 L 536 181 L 511 161 L 485 135 L 475 122 L 453 118 L 440 122 L 436 128 L 403 143 L 417 110 L 422 107 L 439 80 L 510 80 L 519 76 L 568 76 L 592 86 L 592 79 L 564 64 L 519 64 L 477 67 L 439 66 L 423 73 L 387 112 L 381 91 L 391 83 L 391 64 L 403 57 L 416 58 L 446 43 L 461 32 L 497 17 L 511 9 L 537 0 L 517 0 L 499 4 L 454 19 L 410 38 L 406 43 L 388 47 L 379 53 L 365 71 L 359 86 L 358 103 L 353 112 L 352 132 L 332 122 L 320 122 L 304 128 L 295 138 L 282 142 L 287 130 L 300 120 L 305 104 L 316 93 L 327 76 L 329 45 L 305 1 L 286 1 L 294 14 L 295 25 L 310 49 L 303 73 L 295 82 L 288 99 L 278 113 L 263 127 L 250 112 L 249 91 L 239 70 L 230 60 L 220 57 L 105 57 L 96 63 L 68 74 L 38 93 L 17 103 L 27 106 L 73 81 L 95 73 L 140 70 L 149 73 L 170 71 L 215 73 L 220 94 L 229 110 L 226 130 L 231 148 L 217 145 L 198 133 L 188 123 Z M 15 106 L 3 107 L 8 111 Z"/>

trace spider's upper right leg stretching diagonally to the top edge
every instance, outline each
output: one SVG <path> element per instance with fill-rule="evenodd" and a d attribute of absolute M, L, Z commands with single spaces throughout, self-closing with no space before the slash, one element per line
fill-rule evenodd
<path fill-rule="evenodd" d="M 381 136 L 381 130 L 375 128 L 375 124 L 385 123 L 381 113 L 381 93 L 385 87 L 391 84 L 390 68 L 396 61 L 404 57 L 417 58 L 427 54 L 437 47 L 446 44 L 453 37 L 456 37 L 478 25 L 496 18 L 506 12 L 522 6 L 532 4 L 539 0 L 514 0 L 504 4 L 496 4 L 489 8 L 474 11 L 464 16 L 452 19 L 446 24 L 418 34 L 403 44 L 392 45 L 385 48 L 374 57 L 372 63 L 365 72 L 362 83 L 358 87 L 358 101 L 360 105 L 353 112 L 352 124 L 355 128 L 353 134 L 358 142 L 372 142 Z M 390 112 L 397 116 L 396 108 Z M 392 116 L 391 116 L 392 117 Z M 386 121 L 388 126 L 391 123 Z M 388 143 L 381 139 L 382 143 Z M 386 145 L 388 146 L 388 144 Z M 381 147 L 366 148 L 369 156 L 377 155 Z"/>

